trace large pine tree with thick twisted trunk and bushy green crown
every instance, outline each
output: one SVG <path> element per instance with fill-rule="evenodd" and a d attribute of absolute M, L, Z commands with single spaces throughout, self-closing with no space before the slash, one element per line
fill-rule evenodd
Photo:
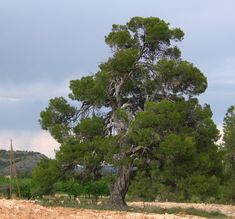
<path fill-rule="evenodd" d="M 65 170 L 83 165 L 81 179 L 96 180 L 102 164 L 118 167 L 110 186 L 113 206 L 126 205 L 133 171 L 157 161 L 162 170 L 171 165 L 177 173 L 187 166 L 190 174 L 197 169 L 190 160 L 198 162 L 201 154 L 206 163 L 216 153 L 212 113 L 195 99 L 207 80 L 182 60 L 176 44 L 183 36 L 157 17 L 113 25 L 105 37 L 112 56 L 95 74 L 70 82 L 69 97 L 78 107 L 59 97 L 41 112 L 42 128 L 61 144 L 56 159 Z M 214 160 L 205 175 L 216 174 Z"/>

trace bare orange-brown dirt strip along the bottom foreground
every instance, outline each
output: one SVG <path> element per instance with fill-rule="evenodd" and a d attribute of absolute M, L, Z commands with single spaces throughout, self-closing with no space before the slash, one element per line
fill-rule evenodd
<path fill-rule="evenodd" d="M 107 218 L 107 219 L 179 219 L 200 217 L 188 215 L 158 215 L 142 214 L 115 211 L 96 211 L 88 209 L 62 208 L 62 207 L 43 207 L 30 201 L 5 200 L 0 199 L 0 218 L 1 219 L 64 219 L 64 218 Z"/>

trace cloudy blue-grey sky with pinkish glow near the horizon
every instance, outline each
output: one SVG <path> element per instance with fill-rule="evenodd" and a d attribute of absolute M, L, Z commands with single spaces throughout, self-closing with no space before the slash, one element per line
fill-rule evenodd
<path fill-rule="evenodd" d="M 221 129 L 235 104 L 234 0 L 0 0 L 0 149 L 54 157 L 58 143 L 40 128 L 49 99 L 67 97 L 69 81 L 95 73 L 110 55 L 112 24 L 156 16 L 180 27 L 183 59 L 208 79 L 199 99 Z"/>

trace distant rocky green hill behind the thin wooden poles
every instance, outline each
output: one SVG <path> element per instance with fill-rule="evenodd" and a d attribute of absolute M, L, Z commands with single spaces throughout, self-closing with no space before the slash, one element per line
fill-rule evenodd
<path fill-rule="evenodd" d="M 10 175 L 10 151 L 0 150 L 0 176 Z M 16 171 L 18 175 L 31 175 L 32 170 L 37 163 L 47 157 L 39 152 L 33 151 L 15 151 Z"/>

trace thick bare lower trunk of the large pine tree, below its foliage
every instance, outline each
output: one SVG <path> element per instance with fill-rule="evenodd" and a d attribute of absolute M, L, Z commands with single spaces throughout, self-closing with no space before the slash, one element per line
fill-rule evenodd
<path fill-rule="evenodd" d="M 116 182 L 110 188 L 110 201 L 112 207 L 124 208 L 127 206 L 125 196 L 129 188 L 132 175 L 131 166 L 121 166 Z"/>

